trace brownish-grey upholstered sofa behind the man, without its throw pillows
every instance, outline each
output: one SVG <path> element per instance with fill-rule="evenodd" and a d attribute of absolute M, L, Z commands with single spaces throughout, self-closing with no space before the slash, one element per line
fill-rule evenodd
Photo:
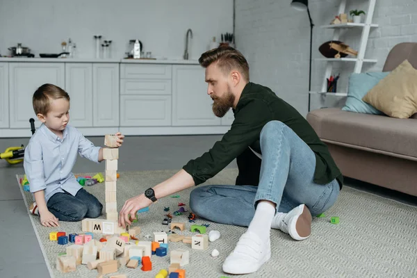
<path fill-rule="evenodd" d="M 406 59 L 417 68 L 417 43 L 395 45 L 382 72 Z M 416 114 L 399 119 L 321 108 L 306 119 L 329 147 L 343 176 L 417 196 Z"/>

